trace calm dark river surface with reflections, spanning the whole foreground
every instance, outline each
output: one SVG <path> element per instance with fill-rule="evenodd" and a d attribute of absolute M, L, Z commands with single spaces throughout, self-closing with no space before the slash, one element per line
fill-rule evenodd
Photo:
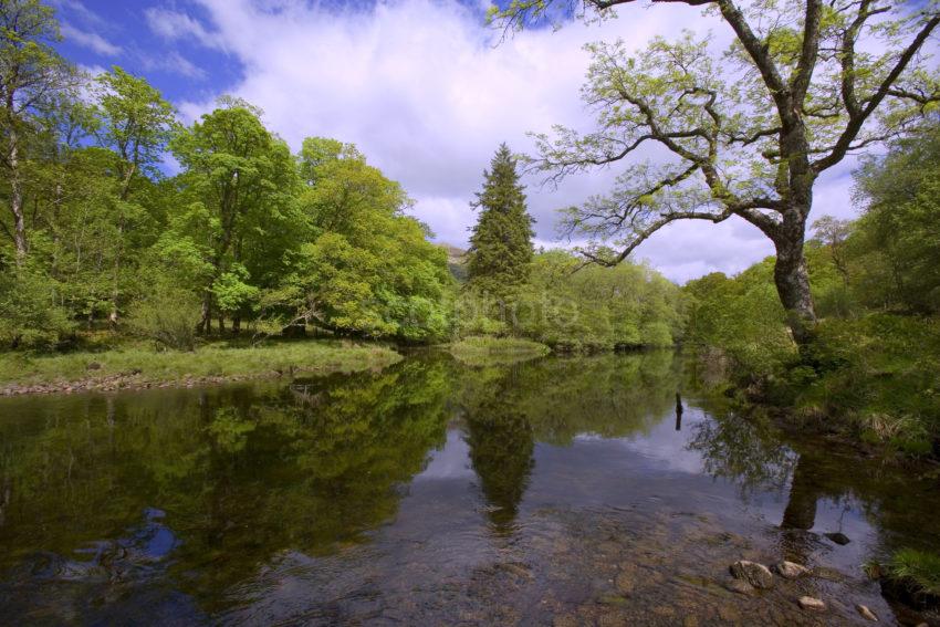
<path fill-rule="evenodd" d="M 940 546 L 937 478 L 692 389 L 671 353 L 418 355 L 0 400 L 0 623 L 865 624 L 858 603 L 917 620 L 863 565 Z M 725 588 L 733 561 L 784 557 L 817 576 Z"/>

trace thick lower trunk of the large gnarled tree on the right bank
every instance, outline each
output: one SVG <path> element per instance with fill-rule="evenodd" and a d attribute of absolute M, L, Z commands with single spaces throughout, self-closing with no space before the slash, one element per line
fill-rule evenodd
<path fill-rule="evenodd" d="M 803 347 L 812 343 L 816 326 L 810 273 L 803 255 L 806 222 L 798 217 L 787 218 L 791 217 L 784 219 L 781 237 L 774 240 L 776 262 L 773 276 L 780 302 L 786 312 L 786 324 L 793 333 L 793 339 Z"/>

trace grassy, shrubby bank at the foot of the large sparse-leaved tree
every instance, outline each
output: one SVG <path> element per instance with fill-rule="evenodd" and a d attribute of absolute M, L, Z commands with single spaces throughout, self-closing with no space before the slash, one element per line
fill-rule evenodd
<path fill-rule="evenodd" d="M 764 344 L 718 345 L 729 394 L 777 407 L 791 427 L 859 446 L 940 457 L 940 318 L 831 318 L 801 356 Z"/>

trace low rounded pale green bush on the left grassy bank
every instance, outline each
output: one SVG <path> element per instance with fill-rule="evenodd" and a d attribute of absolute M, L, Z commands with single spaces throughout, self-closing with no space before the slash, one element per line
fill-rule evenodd
<path fill-rule="evenodd" d="M 199 299 L 191 292 L 159 285 L 132 309 L 128 327 L 135 335 L 154 341 L 158 348 L 195 351 L 201 311 Z"/>

